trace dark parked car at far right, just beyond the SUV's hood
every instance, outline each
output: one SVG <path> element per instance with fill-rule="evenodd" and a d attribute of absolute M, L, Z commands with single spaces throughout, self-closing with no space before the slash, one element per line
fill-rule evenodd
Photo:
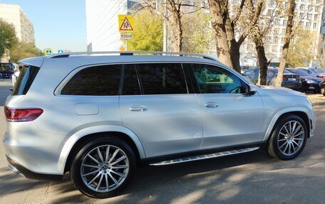
<path fill-rule="evenodd" d="M 300 76 L 300 80 L 302 83 L 302 87 L 301 87 L 302 92 L 314 92 L 314 93 L 321 92 L 320 85 L 322 80 L 319 77 L 314 77 L 304 72 L 303 70 L 299 70 L 299 69 L 286 69 L 286 70 Z"/>

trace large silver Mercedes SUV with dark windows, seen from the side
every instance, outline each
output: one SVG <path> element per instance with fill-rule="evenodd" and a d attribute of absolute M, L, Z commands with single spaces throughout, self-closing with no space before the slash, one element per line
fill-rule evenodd
<path fill-rule="evenodd" d="M 267 146 L 294 159 L 314 135 L 306 96 L 258 87 L 205 55 L 68 53 L 21 60 L 6 100 L 9 168 L 108 198 L 140 163 L 161 166 Z"/>

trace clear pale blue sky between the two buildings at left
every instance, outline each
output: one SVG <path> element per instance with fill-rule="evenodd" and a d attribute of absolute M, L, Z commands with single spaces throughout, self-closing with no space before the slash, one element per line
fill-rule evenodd
<path fill-rule="evenodd" d="M 21 6 L 33 23 L 36 47 L 86 51 L 85 0 L 0 0 Z"/>

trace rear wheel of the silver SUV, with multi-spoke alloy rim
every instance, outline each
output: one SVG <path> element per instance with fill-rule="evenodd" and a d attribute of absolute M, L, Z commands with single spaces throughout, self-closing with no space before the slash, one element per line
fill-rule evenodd
<path fill-rule="evenodd" d="M 78 151 L 70 173 L 81 193 L 92 198 L 110 198 L 128 186 L 135 168 L 135 154 L 130 146 L 121 139 L 105 136 L 90 141 Z"/>

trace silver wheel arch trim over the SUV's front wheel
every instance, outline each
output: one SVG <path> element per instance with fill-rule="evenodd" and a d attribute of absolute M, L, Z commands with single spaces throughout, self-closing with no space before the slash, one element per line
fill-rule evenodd
<path fill-rule="evenodd" d="M 287 109 L 282 109 L 281 111 L 277 112 L 277 114 L 274 115 L 272 122 L 269 124 L 269 127 L 267 128 L 267 132 L 264 136 L 263 141 L 268 141 L 269 142 L 269 138 L 274 130 L 275 127 L 277 127 L 277 123 L 284 117 L 287 117 L 287 115 L 297 115 L 299 117 L 301 117 L 301 119 L 304 120 L 305 124 L 306 124 L 306 128 L 308 131 L 307 137 L 310 137 L 310 131 L 311 131 L 311 117 L 309 116 L 309 113 L 307 111 L 307 109 L 303 108 L 303 107 L 299 107 L 298 109 L 296 108 L 287 108 Z"/>

